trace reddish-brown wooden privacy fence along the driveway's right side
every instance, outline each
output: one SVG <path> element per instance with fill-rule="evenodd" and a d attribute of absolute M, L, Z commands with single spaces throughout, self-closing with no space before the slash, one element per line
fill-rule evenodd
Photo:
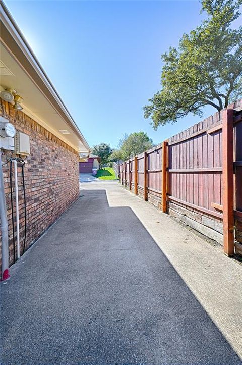
<path fill-rule="evenodd" d="M 242 242 L 242 99 L 119 164 L 135 194 L 234 254 Z"/>

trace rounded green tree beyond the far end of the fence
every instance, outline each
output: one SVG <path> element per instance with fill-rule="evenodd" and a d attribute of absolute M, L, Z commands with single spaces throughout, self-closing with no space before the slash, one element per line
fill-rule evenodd
<path fill-rule="evenodd" d="M 135 132 L 130 135 L 125 134 L 123 138 L 119 140 L 119 148 L 113 151 L 110 160 L 124 161 L 151 147 L 153 147 L 153 141 L 145 132 Z"/>

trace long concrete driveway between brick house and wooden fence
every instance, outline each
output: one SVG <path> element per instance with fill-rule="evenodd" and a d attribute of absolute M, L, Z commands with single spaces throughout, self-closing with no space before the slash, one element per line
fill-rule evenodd
<path fill-rule="evenodd" d="M 242 266 L 116 182 L 82 187 L 1 283 L 1 362 L 240 364 Z"/>

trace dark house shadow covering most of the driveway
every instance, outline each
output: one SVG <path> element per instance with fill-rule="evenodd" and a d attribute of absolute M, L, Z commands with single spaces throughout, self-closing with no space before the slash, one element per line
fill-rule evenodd
<path fill-rule="evenodd" d="M 1 284 L 3 363 L 240 364 L 131 208 L 81 194 Z"/>

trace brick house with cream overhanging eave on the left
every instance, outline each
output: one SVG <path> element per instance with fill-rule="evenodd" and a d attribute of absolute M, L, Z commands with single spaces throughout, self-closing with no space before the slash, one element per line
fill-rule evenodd
<path fill-rule="evenodd" d="M 90 147 L 9 11 L 3 3 L 0 8 L 0 91 L 10 90 L 14 96 L 10 102 L 0 98 L 0 116 L 23 133 L 30 147 L 24 156 L 1 148 L 11 265 L 17 257 L 17 227 L 10 159 L 17 159 L 21 255 L 24 246 L 31 246 L 79 198 L 78 162 L 80 153 L 90 154 Z M 21 159 L 26 159 L 24 164 Z"/>

